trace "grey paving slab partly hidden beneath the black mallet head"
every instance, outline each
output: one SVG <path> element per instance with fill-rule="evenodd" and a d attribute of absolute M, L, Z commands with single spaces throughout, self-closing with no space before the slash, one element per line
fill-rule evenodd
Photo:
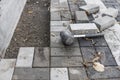
<path fill-rule="evenodd" d="M 54 34 L 54 36 L 53 36 Z M 60 32 L 51 32 L 50 35 L 50 47 L 51 48 L 57 48 L 57 47 L 79 47 L 78 40 L 75 39 L 75 42 L 71 46 L 65 46 L 60 38 Z"/>

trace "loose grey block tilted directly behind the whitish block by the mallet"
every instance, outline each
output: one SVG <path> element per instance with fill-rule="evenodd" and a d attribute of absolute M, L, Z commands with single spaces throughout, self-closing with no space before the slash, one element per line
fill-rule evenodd
<path fill-rule="evenodd" d="M 75 12 L 75 21 L 76 23 L 88 23 L 89 19 L 85 11 L 76 11 Z"/>

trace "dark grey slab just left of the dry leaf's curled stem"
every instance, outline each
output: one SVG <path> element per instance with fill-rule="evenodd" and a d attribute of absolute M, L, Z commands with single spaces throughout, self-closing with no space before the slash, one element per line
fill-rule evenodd
<path fill-rule="evenodd" d="M 93 47 L 81 47 L 81 52 L 85 62 L 91 62 L 96 55 L 95 49 Z M 88 64 L 91 66 L 91 64 Z"/>

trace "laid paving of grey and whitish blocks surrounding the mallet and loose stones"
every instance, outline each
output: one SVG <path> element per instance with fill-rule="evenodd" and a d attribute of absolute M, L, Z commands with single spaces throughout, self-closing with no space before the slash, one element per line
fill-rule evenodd
<path fill-rule="evenodd" d="M 109 1 L 103 2 L 109 5 L 113 3 Z M 64 46 L 60 39 L 60 31 L 65 30 L 70 23 L 74 23 L 74 12 L 79 11 L 80 6 L 88 3 L 99 4 L 102 10 L 108 7 L 103 2 L 101 0 L 51 0 L 51 19 L 48 28 L 50 46 L 31 45 L 34 41 L 29 46 L 27 42 L 26 45 L 22 43 L 18 46 L 20 48 L 18 48 L 18 55 L 15 56 L 17 58 L 10 55 L 6 56 L 6 59 L 1 59 L 0 80 L 120 80 L 119 24 L 104 31 L 104 37 L 78 38 L 72 46 Z M 120 6 L 117 7 L 119 8 Z M 89 20 L 93 19 L 94 16 L 90 15 Z M 90 62 L 97 52 L 103 53 L 100 63 L 105 66 L 104 72 L 95 71 L 89 63 L 84 64 Z M 14 52 L 11 54 L 14 55 Z"/>

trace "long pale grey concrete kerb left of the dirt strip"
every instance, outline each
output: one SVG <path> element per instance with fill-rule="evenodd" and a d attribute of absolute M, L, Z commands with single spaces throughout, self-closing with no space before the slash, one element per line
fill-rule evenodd
<path fill-rule="evenodd" d="M 4 57 L 14 30 L 20 19 L 21 13 L 27 0 L 1 0 L 0 31 L 2 31 L 2 40 L 0 40 L 0 53 Z"/>

